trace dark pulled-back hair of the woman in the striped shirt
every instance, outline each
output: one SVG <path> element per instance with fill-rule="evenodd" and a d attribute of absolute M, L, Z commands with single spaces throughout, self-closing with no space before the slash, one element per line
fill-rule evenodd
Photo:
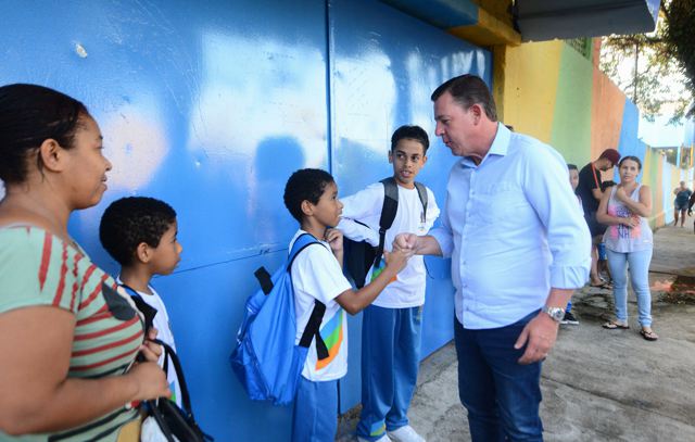
<path fill-rule="evenodd" d="M 56 90 L 23 84 L 0 87 L 0 179 L 24 182 L 30 154 L 47 139 L 72 149 L 80 116 L 89 116 L 87 108 Z M 42 171 L 41 156 L 36 161 Z"/>

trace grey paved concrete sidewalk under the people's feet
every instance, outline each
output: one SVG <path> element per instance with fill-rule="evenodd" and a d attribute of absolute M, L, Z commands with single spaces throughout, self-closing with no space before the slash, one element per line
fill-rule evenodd
<path fill-rule="evenodd" d="M 561 327 L 543 367 L 546 441 L 695 441 L 694 277 L 693 218 L 659 229 L 649 274 L 656 342 L 639 334 L 632 292 L 629 330 L 601 327 L 612 316 L 610 291 L 576 293 L 581 324 Z M 453 344 L 422 363 L 409 416 L 430 442 L 470 440 L 456 366 Z M 338 440 L 355 440 L 355 424 L 354 413 L 343 419 Z"/>

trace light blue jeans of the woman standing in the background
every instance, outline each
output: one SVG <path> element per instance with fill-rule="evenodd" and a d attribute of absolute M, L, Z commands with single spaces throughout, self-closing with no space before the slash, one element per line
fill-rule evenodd
<path fill-rule="evenodd" d="M 607 250 L 608 266 L 612 276 L 612 296 L 616 302 L 616 319 L 628 323 L 628 268 L 632 290 L 637 298 L 640 325 L 652 327 L 652 293 L 649 292 L 649 262 L 652 249 L 620 253 Z"/>

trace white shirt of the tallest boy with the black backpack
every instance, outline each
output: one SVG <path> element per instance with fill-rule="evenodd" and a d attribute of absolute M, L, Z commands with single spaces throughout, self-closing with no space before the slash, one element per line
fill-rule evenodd
<path fill-rule="evenodd" d="M 381 182 L 370 185 L 353 195 L 341 198 L 340 201 L 344 206 L 338 228 L 352 240 L 366 240 L 374 247 L 379 245 L 379 219 L 381 218 L 383 198 L 384 191 Z M 387 230 L 383 249 L 390 252 L 393 249 L 393 239 L 399 233 L 427 235 L 439 213 L 434 194 L 430 189 L 427 189 L 427 216 L 425 216 L 417 188 L 406 189 L 399 186 L 399 209 L 391 228 Z M 355 219 L 366 224 L 369 228 L 355 223 Z M 383 265 L 383 260 L 381 263 Z M 371 280 L 372 270 L 374 268 L 369 269 L 365 282 Z M 408 260 L 405 268 L 399 273 L 396 279 L 383 289 L 372 304 L 387 308 L 420 306 L 425 304 L 425 261 L 420 255 L 413 256 Z"/>

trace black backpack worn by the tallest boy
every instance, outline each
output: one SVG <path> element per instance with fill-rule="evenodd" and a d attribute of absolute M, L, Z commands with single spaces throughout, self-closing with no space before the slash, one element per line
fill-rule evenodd
<path fill-rule="evenodd" d="M 379 218 L 379 245 L 374 248 L 367 241 L 353 241 L 349 238 L 343 239 L 343 267 L 345 274 L 353 279 L 358 289 L 364 287 L 369 268 L 371 268 L 372 265 L 376 267 L 381 265 L 387 230 L 393 225 L 395 213 L 399 210 L 399 185 L 396 185 L 395 179 L 389 177 L 382 179 L 380 182 L 383 185 L 384 193 L 381 217 Z M 427 218 L 427 188 L 417 181 L 415 182 L 415 188 L 422 203 L 424 216 Z M 366 226 L 357 219 L 353 220 Z"/>

